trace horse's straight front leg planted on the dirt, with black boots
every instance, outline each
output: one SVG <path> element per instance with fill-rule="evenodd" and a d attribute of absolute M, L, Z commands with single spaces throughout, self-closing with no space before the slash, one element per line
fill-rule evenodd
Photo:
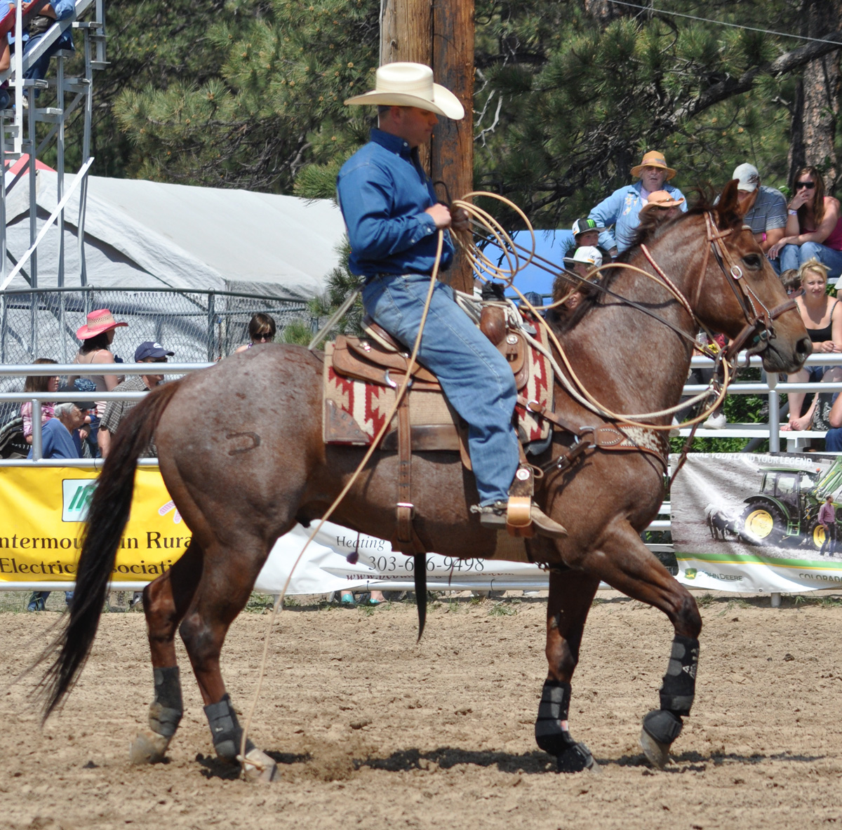
<path fill-rule="evenodd" d="M 599 579 L 583 572 L 550 572 L 550 596 L 546 604 L 549 668 L 541 689 L 535 739 L 544 752 L 556 757 L 560 773 L 581 772 L 595 766 L 584 743 L 570 737 L 568 711 L 584 624 L 599 585 Z"/>

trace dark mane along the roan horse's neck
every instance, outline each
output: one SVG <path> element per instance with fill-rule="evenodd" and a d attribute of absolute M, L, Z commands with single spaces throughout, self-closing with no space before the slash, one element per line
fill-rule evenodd
<path fill-rule="evenodd" d="M 717 194 L 713 191 L 710 185 L 706 187 L 699 186 L 691 191 L 695 193 L 695 200 L 693 204 L 687 209 L 686 213 L 681 213 L 674 216 L 672 219 L 664 220 L 662 214 L 655 210 L 642 211 L 642 218 L 640 225 L 637 226 L 634 236 L 632 237 L 632 244 L 621 253 L 614 261 L 616 263 L 631 263 L 632 259 L 637 256 L 642 245 L 651 245 L 663 237 L 664 234 L 669 233 L 680 222 L 685 221 L 690 216 L 699 216 L 710 212 L 717 211 L 719 220 L 719 229 L 725 231 L 729 228 L 737 227 L 742 224 L 743 216 L 735 211 L 738 204 L 737 189 L 734 183 L 731 182 L 726 186 L 722 192 L 722 197 L 717 202 Z M 600 274 L 600 282 L 603 288 L 610 289 L 616 282 L 616 279 L 621 274 L 619 268 L 605 269 Z M 559 274 L 552 286 L 552 299 L 557 301 L 563 295 L 574 287 L 574 278 L 566 277 L 564 274 Z M 563 311 L 551 309 L 546 314 L 546 320 L 557 333 L 568 332 L 571 328 L 591 311 L 595 306 L 601 306 L 605 303 L 605 293 L 599 288 L 591 288 L 587 291 L 584 299 L 579 303 L 578 307 L 572 314 L 565 315 Z"/>

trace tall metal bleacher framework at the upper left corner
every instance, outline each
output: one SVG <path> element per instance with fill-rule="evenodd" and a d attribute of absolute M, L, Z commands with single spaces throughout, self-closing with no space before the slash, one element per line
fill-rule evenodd
<path fill-rule="evenodd" d="M 13 29 L 14 42 L 22 42 L 22 3 L 17 0 L 17 18 Z M 83 16 L 88 19 L 83 20 Z M 59 50 L 51 60 L 49 77 L 45 80 L 29 80 L 24 78 L 24 72 L 41 56 L 56 45 L 62 33 L 67 29 L 77 29 L 81 38 L 74 39 L 78 52 Z M 80 43 L 81 41 L 81 43 Z M 81 46 L 81 49 L 79 48 Z M 0 111 L 0 155 L 3 158 L 4 187 L 0 191 L 0 249 L 5 253 L 0 259 L 0 290 L 5 289 L 11 277 L 20 273 L 33 288 L 38 287 L 38 251 L 37 242 L 39 229 L 37 226 L 38 210 L 35 202 L 36 160 L 55 144 L 56 146 L 56 189 L 58 205 L 56 213 L 51 216 L 49 226 L 56 223 L 59 239 L 59 257 L 57 285 L 62 287 L 64 282 L 64 221 L 65 212 L 72 202 L 77 205 L 74 223 L 77 224 L 79 240 L 79 260 L 81 263 L 82 285 L 84 278 L 84 224 L 85 200 L 87 195 L 87 174 L 93 158 L 91 147 L 91 120 L 93 115 L 93 72 L 108 66 L 105 60 L 105 8 L 104 0 L 76 0 L 74 12 L 64 20 L 57 20 L 47 29 L 41 40 L 26 55 L 18 48 L 12 56 L 12 65 L 6 72 L 0 72 L 0 82 L 8 81 L 9 93 L 12 96 L 11 109 Z M 66 74 L 67 61 L 81 57 L 82 73 L 76 77 Z M 55 89 L 56 100 L 49 107 L 38 107 L 36 93 L 48 88 Z M 82 111 L 82 163 L 75 171 L 76 176 L 71 189 L 65 187 L 65 138 L 67 124 L 77 109 Z M 51 125 L 48 129 L 39 129 L 37 125 Z M 41 133 L 39 141 L 38 133 Z M 14 162 L 24 159 L 14 174 L 8 169 Z M 6 199 L 20 178 L 29 176 L 29 251 L 16 262 L 7 249 L 6 240 Z M 77 196 L 77 198 L 76 198 Z M 42 226 L 41 233 L 45 232 Z M 9 265 L 11 264 L 11 271 Z"/>

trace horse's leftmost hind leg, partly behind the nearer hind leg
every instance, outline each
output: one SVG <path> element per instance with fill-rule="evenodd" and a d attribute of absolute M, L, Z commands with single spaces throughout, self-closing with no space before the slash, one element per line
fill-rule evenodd
<path fill-rule="evenodd" d="M 155 696 L 149 705 L 149 726 L 131 745 L 131 763 L 163 761 L 179 728 L 184 704 L 175 657 L 175 632 L 193 602 L 202 574 L 202 551 L 191 540 L 184 556 L 143 591 Z"/>

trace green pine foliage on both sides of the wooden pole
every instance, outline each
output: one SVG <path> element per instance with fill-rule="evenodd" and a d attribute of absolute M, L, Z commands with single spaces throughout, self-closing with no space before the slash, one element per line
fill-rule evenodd
<path fill-rule="evenodd" d="M 800 5 L 662 0 L 658 8 L 797 31 Z M 209 0 L 200 13 L 185 0 L 109 3 L 94 172 L 333 194 L 338 166 L 372 122 L 373 110 L 342 102 L 372 85 L 380 11 L 380 0 Z M 761 72 L 749 93 L 693 105 L 798 42 L 662 13 L 611 13 L 606 24 L 580 0 L 477 0 L 477 188 L 556 226 L 625 184 L 653 147 L 685 190 L 720 184 L 746 159 L 769 184 L 784 182 L 793 77 Z"/>

